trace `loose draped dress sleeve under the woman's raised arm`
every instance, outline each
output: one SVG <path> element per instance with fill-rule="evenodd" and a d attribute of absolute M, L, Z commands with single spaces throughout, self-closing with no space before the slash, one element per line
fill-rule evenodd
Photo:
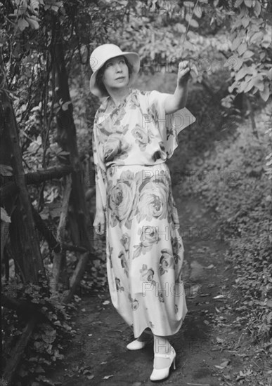
<path fill-rule="evenodd" d="M 153 119 L 155 121 L 155 126 L 162 137 L 167 159 L 173 155 L 174 149 L 179 145 L 179 132 L 195 122 L 195 117 L 186 107 L 173 114 L 165 114 L 165 100 L 169 95 L 171 94 L 159 91 L 150 91 L 145 95 L 148 104 L 148 116 L 145 117 L 145 120 Z"/>

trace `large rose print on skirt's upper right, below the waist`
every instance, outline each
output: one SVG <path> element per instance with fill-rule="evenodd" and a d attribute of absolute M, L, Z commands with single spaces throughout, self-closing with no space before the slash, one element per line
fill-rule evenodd
<path fill-rule="evenodd" d="M 140 190 L 136 209 L 138 222 L 153 218 L 167 218 L 169 188 L 164 183 L 148 182 Z"/>

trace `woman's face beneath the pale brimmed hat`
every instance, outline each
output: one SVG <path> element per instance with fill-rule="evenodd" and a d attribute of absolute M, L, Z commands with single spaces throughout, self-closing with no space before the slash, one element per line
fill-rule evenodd
<path fill-rule="evenodd" d="M 129 69 L 124 56 L 117 56 L 105 63 L 103 74 L 105 88 L 123 88 L 129 84 Z"/>

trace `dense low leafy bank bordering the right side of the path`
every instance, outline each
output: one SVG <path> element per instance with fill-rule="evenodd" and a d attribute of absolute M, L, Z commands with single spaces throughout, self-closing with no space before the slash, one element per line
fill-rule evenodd
<path fill-rule="evenodd" d="M 259 140 L 249 133 L 246 122 L 228 140 L 219 142 L 202 166 L 190 164 L 206 178 L 186 184 L 220 215 L 224 238 L 231 247 L 228 260 L 237 275 L 234 289 L 242 294 L 235 309 L 257 342 L 269 342 L 272 337 L 272 197 L 263 166 L 268 119 L 269 114 L 259 114 Z"/>

